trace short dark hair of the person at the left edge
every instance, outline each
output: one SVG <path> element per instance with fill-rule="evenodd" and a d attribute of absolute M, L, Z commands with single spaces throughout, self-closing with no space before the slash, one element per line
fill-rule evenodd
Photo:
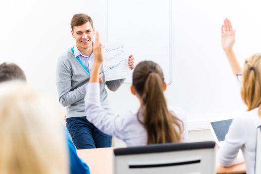
<path fill-rule="evenodd" d="M 26 81 L 25 75 L 20 67 L 13 63 L 0 64 L 0 82 L 10 80 Z"/>

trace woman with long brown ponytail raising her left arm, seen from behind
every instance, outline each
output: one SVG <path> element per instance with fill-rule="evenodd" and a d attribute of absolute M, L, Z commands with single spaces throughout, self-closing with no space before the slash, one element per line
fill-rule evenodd
<path fill-rule="evenodd" d="M 127 146 L 186 141 L 188 131 L 184 114 L 179 108 L 167 107 L 163 73 L 152 61 L 140 62 L 133 72 L 131 93 L 140 101 L 137 113 L 117 115 L 101 107 L 99 92 L 99 73 L 103 62 L 101 47 L 97 33 L 94 64 L 85 96 L 88 121 L 102 132 L 122 139 Z"/>

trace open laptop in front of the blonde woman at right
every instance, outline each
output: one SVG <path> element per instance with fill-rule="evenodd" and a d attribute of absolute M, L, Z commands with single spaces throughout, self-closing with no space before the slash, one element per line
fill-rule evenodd
<path fill-rule="evenodd" d="M 232 121 L 233 121 L 233 119 L 226 119 L 226 120 L 208 122 L 209 129 L 219 148 L 222 147 L 224 144 L 225 137 L 228 133 L 228 130 L 229 130 L 229 127 L 230 127 Z M 242 151 L 240 149 L 234 165 L 243 163 L 244 161 L 245 160 L 244 160 Z"/>

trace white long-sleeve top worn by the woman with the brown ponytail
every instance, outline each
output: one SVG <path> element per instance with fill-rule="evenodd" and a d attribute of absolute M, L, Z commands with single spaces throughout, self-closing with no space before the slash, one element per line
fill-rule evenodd
<path fill-rule="evenodd" d="M 100 104 L 99 83 L 89 83 L 86 87 L 85 113 L 88 121 L 108 135 L 123 140 L 128 147 L 142 146 L 147 143 L 147 133 L 143 125 L 138 121 L 137 114 L 126 113 L 117 115 L 105 110 Z M 188 129 L 183 112 L 178 109 L 170 109 L 176 117 L 183 122 L 182 142 L 187 141 Z"/>

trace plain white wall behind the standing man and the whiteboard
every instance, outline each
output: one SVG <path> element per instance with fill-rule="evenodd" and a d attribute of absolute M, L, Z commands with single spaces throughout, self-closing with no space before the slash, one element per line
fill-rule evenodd
<path fill-rule="evenodd" d="M 235 51 L 243 64 L 245 58 L 261 48 L 260 0 L 173 0 L 172 3 L 174 58 L 173 82 L 166 91 L 168 103 L 180 106 L 189 120 L 236 115 L 245 106 L 221 49 L 221 25 L 225 17 L 232 20 L 237 29 Z M 144 13 L 146 8 L 149 4 L 144 6 Z M 58 102 L 56 61 L 74 44 L 70 20 L 80 12 L 93 17 L 105 41 L 107 0 L 0 1 L 0 63 L 17 63 L 31 86 L 49 93 Z M 135 9 L 130 9 L 131 13 Z M 154 22 L 160 25 L 160 21 Z M 160 33 L 155 31 L 155 36 L 160 37 Z M 109 92 L 113 111 L 137 110 L 138 100 L 129 88 L 130 85 L 123 85 L 117 92 Z"/>

